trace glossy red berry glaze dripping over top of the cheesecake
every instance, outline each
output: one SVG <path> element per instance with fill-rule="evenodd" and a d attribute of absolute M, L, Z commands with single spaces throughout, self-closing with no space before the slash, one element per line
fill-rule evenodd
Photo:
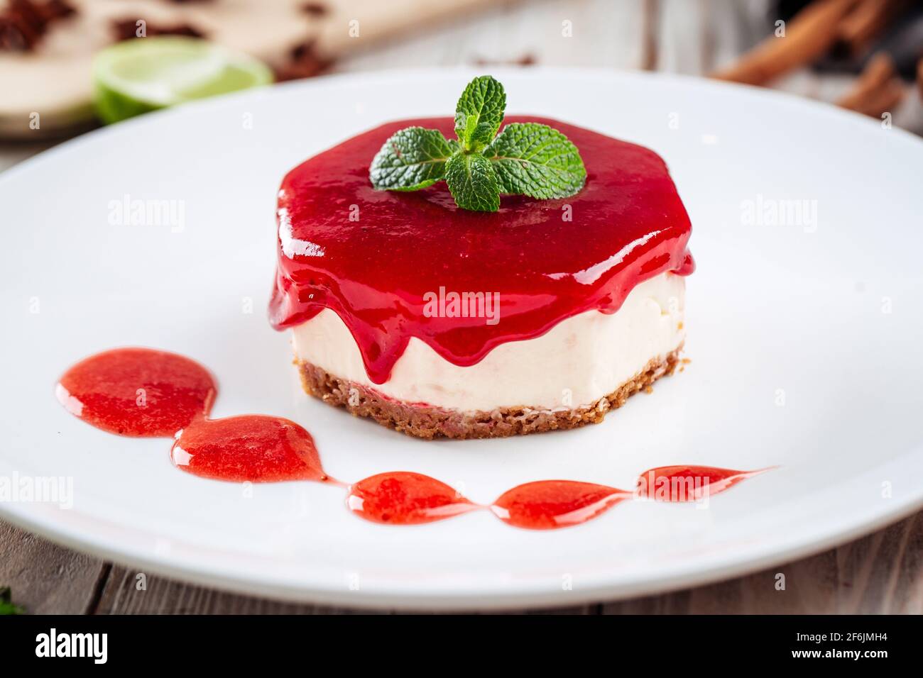
<path fill-rule="evenodd" d="M 279 191 L 272 325 L 334 310 L 369 378 L 382 384 L 411 337 L 450 363 L 472 365 L 571 315 L 614 313 L 642 280 L 692 272 L 689 217 L 656 153 L 554 120 L 505 122 L 518 121 L 553 125 L 577 145 L 588 172 L 578 195 L 503 196 L 488 214 L 457 208 L 445 184 L 411 193 L 372 188 L 368 166 L 391 134 L 422 125 L 451 137 L 451 118 L 381 125 L 289 172 Z M 497 292 L 499 322 L 426 316 L 425 295 L 440 288 Z"/>

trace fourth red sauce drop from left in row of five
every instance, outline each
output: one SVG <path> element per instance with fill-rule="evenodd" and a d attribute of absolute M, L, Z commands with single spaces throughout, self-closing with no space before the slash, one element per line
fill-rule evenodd
<path fill-rule="evenodd" d="M 517 528 L 557 529 L 599 516 L 631 493 L 593 482 L 538 481 L 500 495 L 490 510 Z"/>

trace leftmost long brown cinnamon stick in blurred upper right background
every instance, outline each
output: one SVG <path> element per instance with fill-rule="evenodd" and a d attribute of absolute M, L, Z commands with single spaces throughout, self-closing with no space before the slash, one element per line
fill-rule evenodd
<path fill-rule="evenodd" d="M 763 85 L 820 57 L 836 42 L 840 20 L 858 0 L 814 0 L 785 26 L 785 37 L 767 38 L 736 64 L 712 74 L 719 80 Z"/>

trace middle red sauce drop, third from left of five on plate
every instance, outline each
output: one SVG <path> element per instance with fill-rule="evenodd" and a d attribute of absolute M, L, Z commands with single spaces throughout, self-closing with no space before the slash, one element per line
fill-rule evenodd
<path fill-rule="evenodd" d="M 351 485 L 346 506 L 366 520 L 390 525 L 430 523 L 479 508 L 445 482 L 400 470 Z"/>

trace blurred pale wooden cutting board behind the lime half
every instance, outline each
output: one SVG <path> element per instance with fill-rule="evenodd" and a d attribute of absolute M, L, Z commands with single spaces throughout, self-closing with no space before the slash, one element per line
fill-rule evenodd
<path fill-rule="evenodd" d="M 45 0 L 37 0 L 42 3 Z M 93 124 L 93 54 L 115 40 L 115 21 L 158 28 L 190 26 L 213 42 L 270 65 L 311 44 L 337 59 L 440 20 L 463 17 L 496 0 L 67 0 L 77 9 L 54 21 L 31 52 L 0 52 L 0 137 L 41 138 Z M 0 0 L 0 6 L 6 6 Z"/>

